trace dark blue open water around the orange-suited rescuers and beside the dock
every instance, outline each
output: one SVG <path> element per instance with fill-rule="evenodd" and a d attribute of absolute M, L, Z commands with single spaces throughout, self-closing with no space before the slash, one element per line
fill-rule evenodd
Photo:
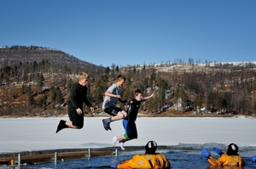
<path fill-rule="evenodd" d="M 207 169 L 209 163 L 207 159 L 201 155 L 201 148 L 211 150 L 212 156 L 218 159 L 218 155 L 212 151 L 212 145 L 216 144 L 179 144 L 177 146 L 164 146 L 157 149 L 158 153 L 166 155 L 166 158 L 171 162 L 172 169 Z M 226 145 L 218 144 L 220 149 L 225 149 Z M 125 149 L 129 149 L 125 148 Z M 118 156 L 102 156 L 93 157 L 88 159 L 79 159 L 74 161 L 57 161 L 50 163 L 41 163 L 34 165 L 22 165 L 19 168 L 22 169 L 83 169 L 83 168 L 111 168 L 110 165 L 113 163 L 119 163 L 130 159 L 133 155 L 142 155 L 143 149 L 135 151 L 120 151 Z M 239 154 L 246 162 L 246 166 L 243 169 L 255 169 L 256 162 L 251 161 L 251 156 L 256 155 L 255 146 L 240 147 Z M 0 166 L 0 169 L 14 169 L 17 167 Z M 218 167 L 216 167 L 218 168 Z M 234 168 L 234 167 L 233 167 Z M 232 168 L 232 169 L 233 169 Z M 236 168 L 236 167 L 235 167 Z"/>

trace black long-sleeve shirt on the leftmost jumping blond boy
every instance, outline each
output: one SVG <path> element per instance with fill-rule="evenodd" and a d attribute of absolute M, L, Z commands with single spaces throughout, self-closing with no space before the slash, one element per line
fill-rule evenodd
<path fill-rule="evenodd" d="M 83 111 L 83 102 L 89 107 L 92 107 L 89 100 L 86 97 L 86 94 L 87 87 L 80 85 L 79 82 L 75 83 L 71 90 L 67 110 L 73 111 L 80 108 Z"/>

